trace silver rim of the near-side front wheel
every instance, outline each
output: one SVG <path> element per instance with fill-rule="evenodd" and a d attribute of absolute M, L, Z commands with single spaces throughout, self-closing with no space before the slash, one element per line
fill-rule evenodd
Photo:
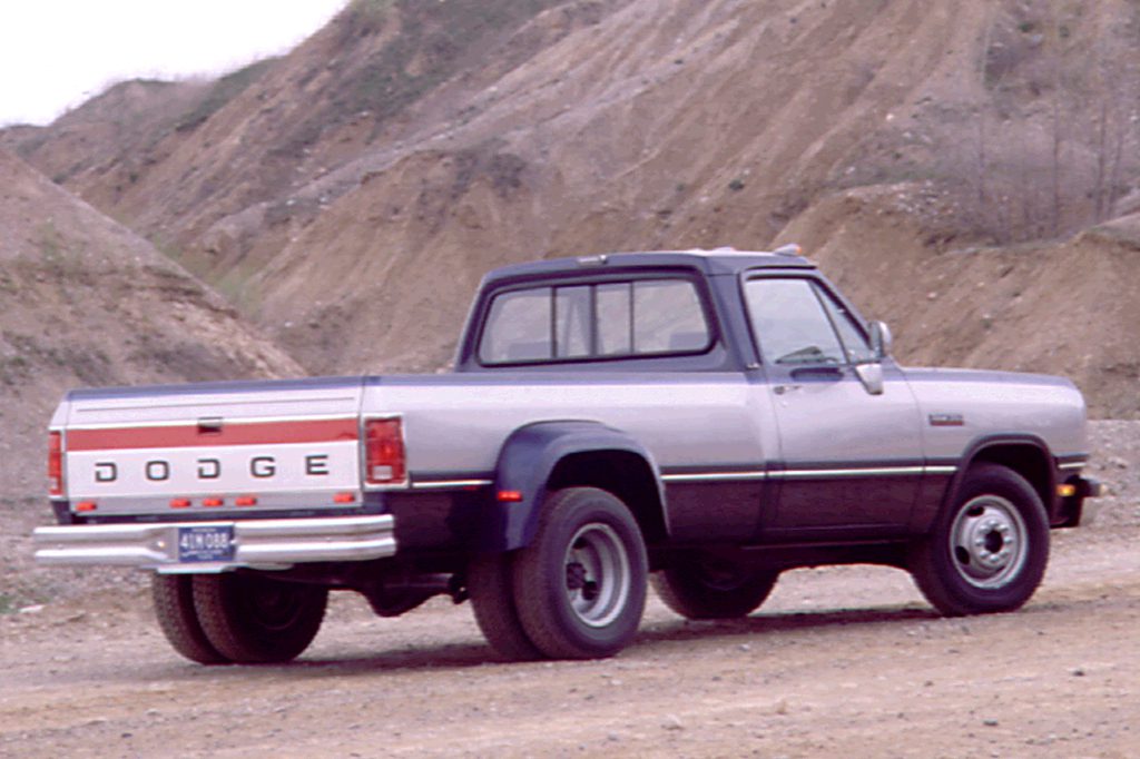
<path fill-rule="evenodd" d="M 959 576 L 976 588 L 1008 585 L 1021 571 L 1027 553 L 1025 520 L 1000 496 L 978 496 L 954 517 L 950 555 Z"/>

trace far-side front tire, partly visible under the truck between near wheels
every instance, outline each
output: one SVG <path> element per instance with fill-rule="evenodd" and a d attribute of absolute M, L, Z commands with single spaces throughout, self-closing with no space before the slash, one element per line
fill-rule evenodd
<path fill-rule="evenodd" d="M 698 558 L 653 576 L 665 605 L 686 619 L 747 617 L 772 593 L 780 573 L 715 558 Z"/>

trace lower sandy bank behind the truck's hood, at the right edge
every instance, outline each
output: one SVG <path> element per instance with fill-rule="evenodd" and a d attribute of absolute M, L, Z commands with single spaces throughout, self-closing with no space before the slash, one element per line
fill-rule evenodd
<path fill-rule="evenodd" d="M 1140 217 L 1056 242 L 917 247 L 917 196 L 906 185 L 842 193 L 781 239 L 887 319 L 909 364 L 1062 374 L 1093 416 L 1140 415 Z"/>

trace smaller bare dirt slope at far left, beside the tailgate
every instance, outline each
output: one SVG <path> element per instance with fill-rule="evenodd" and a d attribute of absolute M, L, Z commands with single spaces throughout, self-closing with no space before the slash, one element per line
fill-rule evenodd
<path fill-rule="evenodd" d="M 296 375 L 146 240 L 0 150 L 0 497 L 42 496 L 46 425 L 81 385 Z"/>

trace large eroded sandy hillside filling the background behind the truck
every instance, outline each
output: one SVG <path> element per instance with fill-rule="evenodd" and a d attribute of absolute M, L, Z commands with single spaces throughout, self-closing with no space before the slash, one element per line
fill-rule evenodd
<path fill-rule="evenodd" d="M 358 0 L 212 109 L 163 100 L 188 125 L 132 161 L 17 141 L 315 372 L 439 366 L 499 263 L 798 239 L 904 360 L 1134 414 L 1140 321 L 1101 305 L 1134 237 L 1101 232 L 1140 198 L 1138 28 L 1127 2 Z"/>

